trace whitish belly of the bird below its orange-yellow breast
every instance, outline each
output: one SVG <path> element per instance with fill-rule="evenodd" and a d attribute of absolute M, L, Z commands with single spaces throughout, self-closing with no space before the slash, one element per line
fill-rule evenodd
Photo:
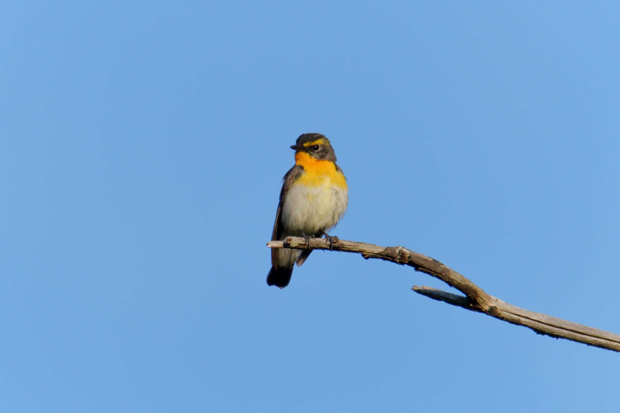
<path fill-rule="evenodd" d="M 347 189 L 332 185 L 329 178 L 322 186 L 291 185 L 282 206 L 285 232 L 316 235 L 329 231 L 347 211 Z"/>

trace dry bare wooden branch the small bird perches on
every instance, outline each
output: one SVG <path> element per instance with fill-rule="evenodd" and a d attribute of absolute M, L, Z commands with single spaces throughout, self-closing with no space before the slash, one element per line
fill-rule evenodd
<path fill-rule="evenodd" d="M 310 238 L 310 248 L 315 250 L 330 250 L 329 242 L 323 238 Z M 308 248 L 304 238 L 287 237 L 284 241 L 270 241 L 270 248 Z M 412 288 L 415 292 L 443 301 L 452 305 L 479 311 L 508 323 L 518 324 L 533 329 L 538 334 L 582 342 L 590 346 L 601 347 L 620 352 L 620 336 L 607 331 L 582 326 L 582 324 L 561 320 L 542 313 L 534 313 L 523 308 L 503 302 L 499 298 L 489 295 L 471 280 L 463 277 L 453 269 L 446 267 L 436 259 L 408 250 L 402 246 L 378 246 L 363 242 L 337 240 L 334 238 L 334 251 L 360 253 L 364 258 L 379 258 L 401 265 L 414 267 L 415 271 L 425 272 L 436 277 L 465 295 L 418 286 Z"/>

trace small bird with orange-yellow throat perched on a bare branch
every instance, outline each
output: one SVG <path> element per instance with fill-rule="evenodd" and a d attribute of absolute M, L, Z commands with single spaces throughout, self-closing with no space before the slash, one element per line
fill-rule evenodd
<path fill-rule="evenodd" d="M 324 135 L 304 133 L 291 149 L 296 151 L 295 165 L 284 176 L 272 240 L 325 235 L 331 241 L 327 231 L 347 211 L 347 178 L 336 165 L 336 154 Z M 311 252 L 311 249 L 272 248 L 267 284 L 286 287 L 293 274 L 293 264 L 300 266 Z"/>

